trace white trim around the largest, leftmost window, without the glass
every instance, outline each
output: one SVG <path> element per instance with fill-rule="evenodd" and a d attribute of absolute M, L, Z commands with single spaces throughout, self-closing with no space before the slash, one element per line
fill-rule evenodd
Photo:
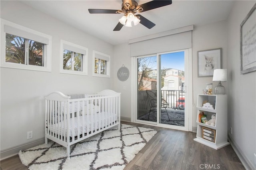
<path fill-rule="evenodd" d="M 6 33 L 14 34 L 28 40 L 44 43 L 44 66 L 26 65 L 19 63 L 6 62 Z M 16 35 L 18 34 L 18 35 Z M 1 59 L 0 67 L 12 69 L 26 69 L 33 71 L 47 71 L 52 70 L 52 36 L 32 30 L 30 28 L 15 24 L 13 22 L 1 19 Z"/>

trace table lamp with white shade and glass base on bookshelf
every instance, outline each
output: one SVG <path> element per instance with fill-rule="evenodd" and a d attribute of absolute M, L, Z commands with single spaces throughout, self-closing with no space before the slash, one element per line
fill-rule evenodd
<path fill-rule="evenodd" d="M 218 81 L 218 85 L 214 89 L 216 95 L 224 95 L 225 87 L 221 85 L 221 81 L 227 81 L 227 69 L 215 69 L 212 81 Z"/>

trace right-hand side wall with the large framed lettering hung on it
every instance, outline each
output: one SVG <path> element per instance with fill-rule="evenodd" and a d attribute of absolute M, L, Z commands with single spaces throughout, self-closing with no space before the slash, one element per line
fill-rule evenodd
<path fill-rule="evenodd" d="M 254 4 L 255 1 L 236 1 L 228 18 L 227 90 L 230 140 L 256 169 L 256 71 L 240 74 L 240 24 Z"/>

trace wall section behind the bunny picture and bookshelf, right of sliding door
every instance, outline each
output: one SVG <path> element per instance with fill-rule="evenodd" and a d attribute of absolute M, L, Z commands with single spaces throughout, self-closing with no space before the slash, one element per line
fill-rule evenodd
<path fill-rule="evenodd" d="M 227 24 L 226 21 L 220 21 L 204 26 L 195 26 L 192 37 L 192 55 L 193 55 L 193 99 L 194 106 L 192 111 L 192 127 L 196 128 L 197 115 L 197 95 L 203 93 L 206 83 L 212 83 L 213 89 L 218 82 L 212 81 L 212 77 L 198 77 L 198 54 L 197 51 L 222 48 L 222 68 L 227 68 Z M 222 85 L 226 87 L 227 82 Z"/>

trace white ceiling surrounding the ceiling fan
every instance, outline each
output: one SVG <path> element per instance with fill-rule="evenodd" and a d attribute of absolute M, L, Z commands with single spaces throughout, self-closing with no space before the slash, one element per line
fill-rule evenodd
<path fill-rule="evenodd" d="M 150 0 L 136 0 L 144 4 Z M 122 14 L 90 14 L 88 8 L 120 10 L 121 0 L 25 0 L 23 3 L 88 34 L 117 45 L 128 40 L 184 26 L 204 25 L 226 20 L 232 0 L 173 0 L 171 5 L 140 13 L 155 23 L 151 29 L 142 24 L 113 31 Z M 138 13 L 136 13 L 138 14 Z"/>

